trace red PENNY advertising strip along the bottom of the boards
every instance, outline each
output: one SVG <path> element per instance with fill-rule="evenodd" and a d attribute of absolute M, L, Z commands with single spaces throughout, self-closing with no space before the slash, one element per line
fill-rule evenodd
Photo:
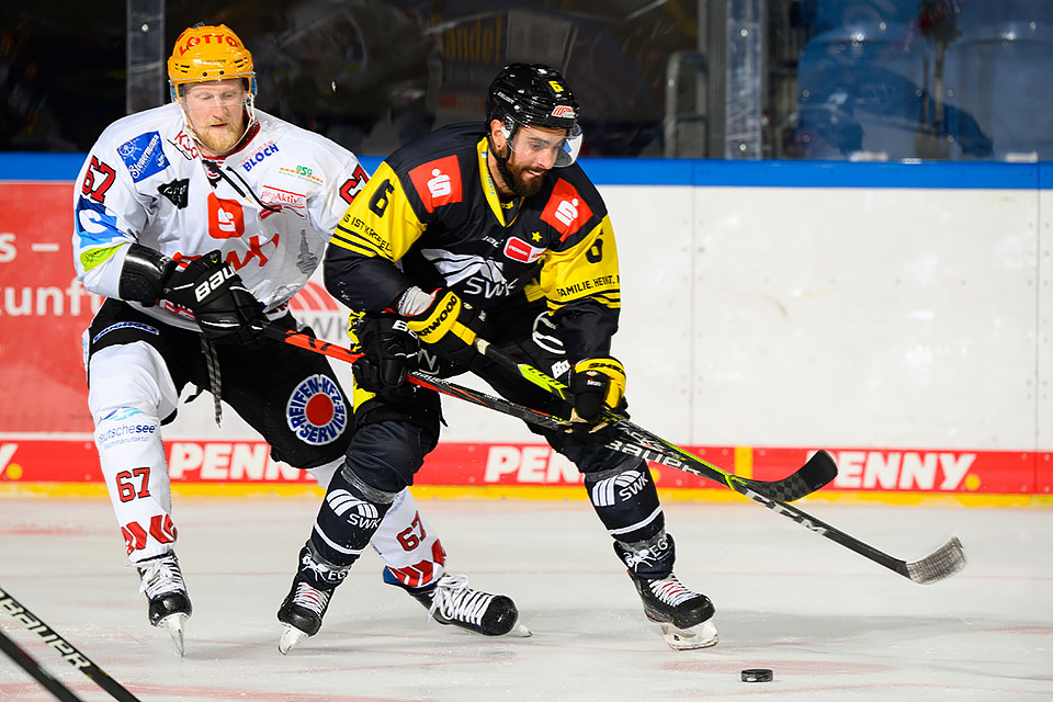
<path fill-rule="evenodd" d="M 312 483 L 309 474 L 270 457 L 262 441 L 166 441 L 176 483 Z M 807 449 L 686 446 L 729 473 L 774 480 L 804 464 Z M 1053 490 L 1051 454 L 1006 451 L 891 451 L 831 449 L 838 477 L 824 491 L 928 494 L 1044 494 Z M 658 487 L 712 488 L 693 474 L 652 464 Z M 0 441 L 0 483 L 101 482 L 89 440 L 34 438 Z M 417 485 L 573 486 L 577 468 L 544 444 L 443 442 L 429 454 Z"/>

